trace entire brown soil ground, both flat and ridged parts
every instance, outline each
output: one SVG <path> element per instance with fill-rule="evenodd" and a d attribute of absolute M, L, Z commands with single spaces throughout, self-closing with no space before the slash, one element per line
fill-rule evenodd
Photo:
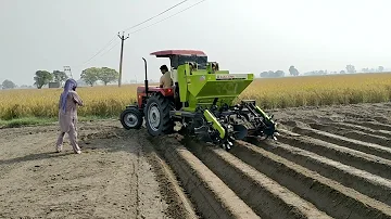
<path fill-rule="evenodd" d="M 117 120 L 80 124 L 80 155 L 1 129 L 0 218 L 391 218 L 391 104 L 274 114 L 278 142 L 229 153 Z"/>

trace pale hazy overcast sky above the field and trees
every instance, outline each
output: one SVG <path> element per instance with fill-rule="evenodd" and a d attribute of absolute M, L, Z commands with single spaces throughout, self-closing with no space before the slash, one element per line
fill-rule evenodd
<path fill-rule="evenodd" d="M 117 33 L 180 1 L 0 0 L 0 80 L 33 85 L 37 69 L 52 72 L 64 65 L 76 79 L 90 66 L 118 69 Z M 189 0 L 126 34 L 198 1 Z M 346 64 L 388 68 L 390 8 L 389 0 L 206 0 L 131 34 L 125 41 L 123 81 L 143 80 L 142 56 L 151 77 L 159 78 L 159 66 L 168 62 L 149 53 L 164 49 L 203 50 L 220 68 L 256 75 L 288 72 L 290 65 L 301 73 L 339 72 Z"/>

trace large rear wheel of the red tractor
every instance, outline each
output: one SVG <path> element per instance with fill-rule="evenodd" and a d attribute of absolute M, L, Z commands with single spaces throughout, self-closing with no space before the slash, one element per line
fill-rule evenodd
<path fill-rule="evenodd" d="M 172 102 L 161 94 L 151 95 L 144 108 L 148 132 L 155 137 L 172 133 L 174 121 L 169 117 Z"/>

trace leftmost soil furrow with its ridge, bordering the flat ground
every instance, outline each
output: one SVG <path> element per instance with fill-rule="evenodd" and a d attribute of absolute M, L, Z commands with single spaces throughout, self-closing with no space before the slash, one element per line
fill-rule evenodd
<path fill-rule="evenodd" d="M 213 171 L 174 138 L 151 139 L 205 218 L 260 218 Z"/>

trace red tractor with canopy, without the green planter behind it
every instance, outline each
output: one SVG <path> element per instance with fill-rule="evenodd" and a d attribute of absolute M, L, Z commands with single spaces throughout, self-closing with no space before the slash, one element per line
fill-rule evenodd
<path fill-rule="evenodd" d="M 195 62 L 195 64 L 206 65 L 206 54 L 198 50 L 165 50 L 151 53 L 156 57 L 169 57 L 172 74 L 176 73 L 179 65 Z M 137 88 L 137 103 L 126 106 L 121 114 L 121 123 L 125 129 L 139 129 L 146 118 L 146 126 L 150 134 L 159 136 L 172 133 L 174 121 L 178 120 L 171 116 L 171 111 L 181 107 L 179 100 L 178 81 L 169 89 L 151 87 L 148 85 L 147 61 L 144 62 L 146 80 L 144 86 Z M 147 111 L 148 108 L 148 111 Z"/>

